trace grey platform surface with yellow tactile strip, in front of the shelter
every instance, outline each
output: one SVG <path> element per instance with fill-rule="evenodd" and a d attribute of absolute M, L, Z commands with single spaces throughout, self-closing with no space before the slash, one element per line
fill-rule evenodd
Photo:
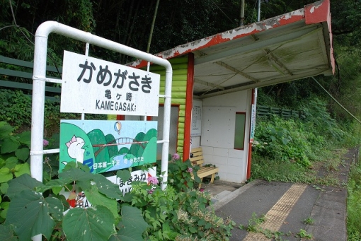
<path fill-rule="evenodd" d="M 341 182 L 347 182 L 350 164 L 358 155 L 358 148 L 350 149 L 340 167 Z M 270 240 L 263 233 L 238 228 L 249 221 L 265 216 L 260 225 L 263 230 L 280 233 L 281 240 L 306 240 L 299 237 L 300 230 L 312 235 L 312 240 L 346 241 L 346 198 L 344 187 L 316 188 L 308 184 L 266 182 L 253 180 L 236 184 L 215 180 L 202 184 L 213 195 L 212 207 L 217 216 L 230 217 L 236 222 L 230 240 Z M 314 221 L 307 224 L 306 219 Z"/>

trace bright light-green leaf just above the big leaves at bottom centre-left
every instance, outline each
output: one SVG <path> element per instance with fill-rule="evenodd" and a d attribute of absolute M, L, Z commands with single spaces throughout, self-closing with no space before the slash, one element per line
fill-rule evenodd
<path fill-rule="evenodd" d="M 86 199 L 93 206 L 101 205 L 106 206 L 113 213 L 115 218 L 118 217 L 118 208 L 117 208 L 117 200 L 116 199 L 108 199 L 105 195 L 98 192 L 98 187 L 96 185 L 92 185 L 90 190 L 84 190 L 86 195 Z"/>

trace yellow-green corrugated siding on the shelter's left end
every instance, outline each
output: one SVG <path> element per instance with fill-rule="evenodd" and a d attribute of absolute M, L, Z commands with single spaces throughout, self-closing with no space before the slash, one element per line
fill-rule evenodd
<path fill-rule="evenodd" d="M 172 64 L 172 105 L 179 105 L 178 143 L 177 152 L 183 154 L 184 123 L 185 123 L 185 95 L 187 91 L 188 56 L 169 60 Z M 150 66 L 149 71 L 161 75 L 160 94 L 164 95 L 166 70 L 163 66 Z M 164 104 L 164 98 L 159 98 L 159 104 Z"/>

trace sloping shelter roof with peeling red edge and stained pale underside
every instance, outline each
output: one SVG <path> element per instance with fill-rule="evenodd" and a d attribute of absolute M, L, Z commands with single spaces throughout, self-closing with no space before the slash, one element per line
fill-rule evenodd
<path fill-rule="evenodd" d="M 331 75 L 334 59 L 329 0 L 156 54 L 195 56 L 194 94 L 200 98 Z M 144 61 L 132 66 L 144 66 Z"/>

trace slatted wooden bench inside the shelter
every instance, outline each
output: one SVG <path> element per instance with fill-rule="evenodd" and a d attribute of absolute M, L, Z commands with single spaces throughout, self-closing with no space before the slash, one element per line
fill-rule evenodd
<path fill-rule="evenodd" d="M 214 182 L 214 177 L 216 175 L 216 173 L 218 172 L 218 167 L 207 167 L 204 166 L 205 160 L 203 159 L 203 152 L 202 152 L 202 148 L 193 148 L 191 151 L 191 158 L 190 159 L 190 163 L 192 163 L 192 165 L 197 165 L 200 167 L 200 170 L 197 171 L 197 175 L 198 177 L 200 177 L 200 184 L 198 186 L 198 188 L 201 187 L 202 185 L 202 180 L 203 177 L 207 177 L 207 176 L 211 176 L 211 180 L 210 183 Z M 192 177 L 194 179 L 194 177 Z"/>

